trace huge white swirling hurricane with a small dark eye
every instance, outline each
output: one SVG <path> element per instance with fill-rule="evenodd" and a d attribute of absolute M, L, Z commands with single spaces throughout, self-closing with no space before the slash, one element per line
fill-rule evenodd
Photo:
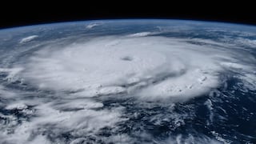
<path fill-rule="evenodd" d="M 22 78 L 42 89 L 78 91 L 81 97 L 183 100 L 216 88 L 225 66 L 222 58 L 232 63 L 233 57 L 216 46 L 182 39 L 103 37 L 39 50 L 26 62 Z"/>

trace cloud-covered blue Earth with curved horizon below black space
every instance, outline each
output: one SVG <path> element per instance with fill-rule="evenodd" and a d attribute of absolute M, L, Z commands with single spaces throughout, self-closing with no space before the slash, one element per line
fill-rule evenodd
<path fill-rule="evenodd" d="M 256 26 L 0 30 L 0 143 L 255 143 Z"/>

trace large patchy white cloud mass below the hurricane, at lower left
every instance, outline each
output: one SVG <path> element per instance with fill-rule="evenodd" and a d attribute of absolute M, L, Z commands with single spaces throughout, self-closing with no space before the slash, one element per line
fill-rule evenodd
<path fill-rule="evenodd" d="M 121 118 L 122 111 L 119 108 L 92 110 L 102 107 L 102 104 L 98 102 L 87 101 L 86 99 L 80 99 L 80 102 L 78 100 L 52 101 L 34 107 L 34 116 L 36 117 L 31 118 L 29 122 L 23 121 L 19 125 L 14 124 L 17 126 L 13 128 L 13 134 L 0 134 L 2 141 L 50 143 L 49 137 L 51 137 L 50 133 L 53 130 L 56 135 L 69 133 L 76 138 L 95 136 L 104 127 L 114 130 L 117 122 L 126 121 L 126 118 Z M 9 106 L 9 108 L 11 107 L 14 107 L 14 105 Z M 16 121 L 15 119 L 13 120 L 13 122 Z M 3 131 L 11 130 L 10 128 L 11 126 L 3 128 Z M 62 140 L 58 139 L 56 141 L 62 142 Z"/>

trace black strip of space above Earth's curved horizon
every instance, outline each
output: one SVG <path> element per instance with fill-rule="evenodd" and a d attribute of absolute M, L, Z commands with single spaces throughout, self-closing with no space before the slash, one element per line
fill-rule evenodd
<path fill-rule="evenodd" d="M 23 1 L 21 1 L 23 2 Z M 88 2 L 88 3 L 87 3 Z M 15 6 L 17 7 L 14 7 Z M 84 3 L 51 2 L 2 4 L 0 9 L 0 28 L 26 26 L 49 22 L 66 22 L 88 19 L 113 18 L 176 18 L 206 21 L 236 22 L 256 25 L 254 4 L 246 2 L 176 3 L 148 1 L 146 5 L 136 2 L 84 1 Z"/>

